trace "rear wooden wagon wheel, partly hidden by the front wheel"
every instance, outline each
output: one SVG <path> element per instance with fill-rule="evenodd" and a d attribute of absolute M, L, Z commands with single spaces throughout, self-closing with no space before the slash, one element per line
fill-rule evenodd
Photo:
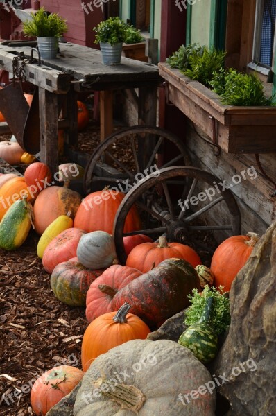
<path fill-rule="evenodd" d="M 126 180 L 132 185 L 150 174 L 154 166 L 166 168 L 175 164 L 190 166 L 191 161 L 184 144 L 173 133 L 146 125 L 124 128 L 107 137 L 92 153 L 85 169 L 85 193 L 92 192 L 92 184 L 93 190 L 118 186 Z M 119 190 L 126 193 L 129 188 L 123 186 Z"/>

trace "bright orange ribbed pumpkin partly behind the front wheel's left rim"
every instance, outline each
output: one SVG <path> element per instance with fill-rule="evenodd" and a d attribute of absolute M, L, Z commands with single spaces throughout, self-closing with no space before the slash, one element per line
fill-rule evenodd
<path fill-rule="evenodd" d="M 112 189 L 89 193 L 78 208 L 74 227 L 85 229 L 86 232 L 101 230 L 112 234 L 114 218 L 124 196 L 124 193 Z M 139 215 L 133 206 L 126 216 L 123 232 L 139 228 Z"/>

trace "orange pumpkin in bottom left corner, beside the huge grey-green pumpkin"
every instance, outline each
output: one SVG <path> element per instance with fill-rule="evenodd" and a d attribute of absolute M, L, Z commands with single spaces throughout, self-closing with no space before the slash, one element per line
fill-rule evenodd
<path fill-rule="evenodd" d="M 35 415 L 46 415 L 82 378 L 83 372 L 71 365 L 59 365 L 42 374 L 31 390 L 31 405 Z"/>

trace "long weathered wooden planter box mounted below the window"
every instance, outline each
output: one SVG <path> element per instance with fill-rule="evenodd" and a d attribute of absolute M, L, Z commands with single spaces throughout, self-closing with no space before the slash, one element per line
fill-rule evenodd
<path fill-rule="evenodd" d="M 169 64 L 160 63 L 159 74 L 169 101 L 225 152 L 276 152 L 276 107 L 223 105 L 217 94 Z"/>

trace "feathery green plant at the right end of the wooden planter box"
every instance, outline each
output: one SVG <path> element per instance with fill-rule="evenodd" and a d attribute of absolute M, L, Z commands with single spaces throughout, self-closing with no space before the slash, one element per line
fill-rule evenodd
<path fill-rule="evenodd" d="M 209 83 L 226 105 L 275 105 L 274 97 L 264 95 L 264 85 L 254 74 L 235 69 L 214 73 Z"/>

